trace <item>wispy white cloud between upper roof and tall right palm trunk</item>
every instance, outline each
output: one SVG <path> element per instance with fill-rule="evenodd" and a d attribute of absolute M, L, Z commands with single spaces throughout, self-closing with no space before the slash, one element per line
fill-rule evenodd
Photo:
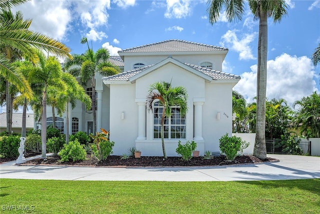
<path fill-rule="evenodd" d="M 238 40 L 235 32 L 237 30 L 228 30 L 222 37 L 221 45 L 223 47 L 230 46 L 230 49 L 239 53 L 240 60 L 253 60 L 249 44 L 254 40 L 256 33 L 244 34 L 241 40 Z"/>

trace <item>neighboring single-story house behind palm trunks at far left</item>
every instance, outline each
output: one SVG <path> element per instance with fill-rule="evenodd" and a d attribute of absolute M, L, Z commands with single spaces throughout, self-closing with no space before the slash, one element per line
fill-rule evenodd
<path fill-rule="evenodd" d="M 33 114 L 26 114 L 25 130 L 33 129 Z M 21 134 L 22 113 L 12 113 L 12 132 Z M 0 113 L 0 132 L 6 131 L 6 112 Z"/>

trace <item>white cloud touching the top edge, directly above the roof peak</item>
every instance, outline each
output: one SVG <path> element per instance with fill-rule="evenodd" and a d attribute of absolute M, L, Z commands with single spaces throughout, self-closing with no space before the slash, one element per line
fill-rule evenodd
<path fill-rule="evenodd" d="M 181 19 L 191 13 L 190 0 L 166 0 L 165 18 Z"/>

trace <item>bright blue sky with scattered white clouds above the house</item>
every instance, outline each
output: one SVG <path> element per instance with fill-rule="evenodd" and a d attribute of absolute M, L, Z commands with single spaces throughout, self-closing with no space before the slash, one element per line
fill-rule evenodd
<path fill-rule="evenodd" d="M 311 55 L 320 43 L 320 1 L 286 1 L 288 15 L 280 23 L 268 20 L 267 97 L 295 100 L 319 91 L 320 65 Z M 241 76 L 234 90 L 252 102 L 255 96 L 258 21 L 246 8 L 242 21 L 228 23 L 224 13 L 210 25 L 206 0 L 32 0 L 15 10 L 31 18 L 30 29 L 53 37 L 72 53 L 118 50 L 180 39 L 228 48 L 223 72 Z M 2 109 L 2 111 L 5 109 Z"/>

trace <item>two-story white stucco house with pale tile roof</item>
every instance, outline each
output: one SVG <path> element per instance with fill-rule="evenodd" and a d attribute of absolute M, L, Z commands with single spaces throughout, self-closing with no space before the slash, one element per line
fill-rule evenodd
<path fill-rule="evenodd" d="M 177 142 L 194 140 L 200 155 L 219 151 L 219 138 L 231 135 L 232 88 L 239 76 L 222 72 L 226 48 L 182 40 L 129 48 L 110 60 L 121 73 L 109 77 L 96 75 L 97 130 L 110 130 L 113 154 L 126 153 L 135 146 L 142 156 L 162 156 L 160 139 L 161 106 L 146 110 L 150 85 L 157 81 L 183 86 L 188 93 L 188 112 L 180 118 L 178 106 L 165 124 L 165 149 L 176 156 Z M 87 85 L 90 92 L 90 84 Z M 48 118 L 49 117 L 48 108 Z M 60 118 L 65 124 L 65 118 Z M 92 114 L 79 103 L 69 112 L 70 134 L 90 132 Z"/>

